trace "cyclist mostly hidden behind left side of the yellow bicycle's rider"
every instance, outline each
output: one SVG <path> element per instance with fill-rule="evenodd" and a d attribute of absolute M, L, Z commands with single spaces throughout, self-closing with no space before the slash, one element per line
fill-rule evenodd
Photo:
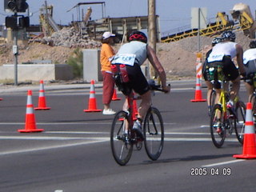
<path fill-rule="evenodd" d="M 212 42 L 211 42 L 211 46 L 212 48 L 219 42 L 222 42 L 222 38 L 213 38 Z M 214 89 L 214 86 L 213 84 L 210 82 L 210 79 L 209 79 L 209 71 L 208 71 L 208 67 L 206 66 L 207 64 L 207 58 L 209 57 L 209 54 L 211 53 L 212 51 L 212 48 L 210 50 L 207 51 L 206 53 L 206 61 L 203 63 L 202 65 L 202 75 L 203 75 L 203 78 L 205 79 L 206 81 L 206 86 L 207 86 L 207 104 L 208 104 L 208 115 L 210 116 L 210 111 L 211 111 L 211 106 L 210 106 L 210 94 L 211 92 L 213 91 Z"/>

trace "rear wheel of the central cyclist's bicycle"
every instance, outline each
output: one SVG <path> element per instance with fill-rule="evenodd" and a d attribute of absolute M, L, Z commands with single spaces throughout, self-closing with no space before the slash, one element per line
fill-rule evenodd
<path fill-rule="evenodd" d="M 127 131 L 128 115 L 121 110 L 114 116 L 111 126 L 110 143 L 114 160 L 125 166 L 133 152 L 130 131 Z"/>

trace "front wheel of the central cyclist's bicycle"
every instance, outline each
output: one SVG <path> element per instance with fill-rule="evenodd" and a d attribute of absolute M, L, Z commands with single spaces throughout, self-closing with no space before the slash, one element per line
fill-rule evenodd
<path fill-rule="evenodd" d="M 145 136 L 144 144 L 146 154 L 151 160 L 155 161 L 162 153 L 164 142 L 162 115 L 158 109 L 151 107 L 146 113 L 143 132 Z"/>

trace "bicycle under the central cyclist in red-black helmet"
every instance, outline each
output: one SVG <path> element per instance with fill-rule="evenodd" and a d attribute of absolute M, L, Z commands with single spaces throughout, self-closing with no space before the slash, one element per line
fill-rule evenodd
<path fill-rule="evenodd" d="M 160 89 L 159 86 L 150 86 L 151 90 Z M 142 138 L 132 130 L 134 125 L 134 94 L 126 96 L 128 110 L 120 110 L 114 116 L 110 132 L 110 144 L 114 160 L 120 165 L 125 166 L 129 162 L 134 145 L 138 150 L 142 148 Z M 162 154 L 164 144 L 164 126 L 160 111 L 150 106 L 144 121 L 142 122 L 144 134 L 144 146 L 148 157 L 155 161 Z"/>

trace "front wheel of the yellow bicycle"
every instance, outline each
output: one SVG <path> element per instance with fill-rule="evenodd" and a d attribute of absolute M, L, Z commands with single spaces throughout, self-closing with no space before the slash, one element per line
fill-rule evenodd
<path fill-rule="evenodd" d="M 243 137 L 246 126 L 246 105 L 242 101 L 238 101 L 235 106 L 236 112 L 236 126 L 234 126 L 235 134 L 238 138 L 238 142 L 243 143 Z"/>

